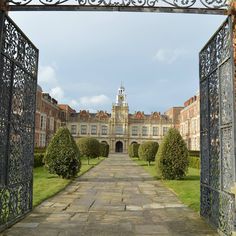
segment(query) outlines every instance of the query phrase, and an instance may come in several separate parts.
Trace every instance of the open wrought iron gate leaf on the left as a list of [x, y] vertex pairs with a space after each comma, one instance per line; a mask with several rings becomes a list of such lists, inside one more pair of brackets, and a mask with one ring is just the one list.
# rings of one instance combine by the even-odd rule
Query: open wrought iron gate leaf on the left
[[0, 231], [32, 209], [38, 50], [0, 12]]

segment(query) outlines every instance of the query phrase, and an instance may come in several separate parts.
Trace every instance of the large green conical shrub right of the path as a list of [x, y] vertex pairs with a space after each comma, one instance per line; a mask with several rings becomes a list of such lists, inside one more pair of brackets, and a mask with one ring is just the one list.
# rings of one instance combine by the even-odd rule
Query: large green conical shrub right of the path
[[188, 149], [178, 130], [171, 128], [156, 155], [156, 168], [163, 179], [181, 179], [188, 170]]

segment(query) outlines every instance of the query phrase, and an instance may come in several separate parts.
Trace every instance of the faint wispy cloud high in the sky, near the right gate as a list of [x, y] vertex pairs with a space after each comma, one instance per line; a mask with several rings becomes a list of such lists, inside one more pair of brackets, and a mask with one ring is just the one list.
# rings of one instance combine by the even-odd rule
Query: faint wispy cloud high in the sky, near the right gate
[[172, 64], [173, 62], [177, 61], [180, 57], [183, 57], [188, 54], [188, 51], [181, 48], [176, 49], [159, 49], [154, 56], [154, 59], [166, 63]]

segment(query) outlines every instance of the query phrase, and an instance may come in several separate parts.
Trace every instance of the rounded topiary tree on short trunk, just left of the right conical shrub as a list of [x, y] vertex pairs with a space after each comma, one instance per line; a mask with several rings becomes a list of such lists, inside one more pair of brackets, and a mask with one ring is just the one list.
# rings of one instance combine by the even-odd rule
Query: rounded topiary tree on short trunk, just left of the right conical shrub
[[159, 144], [157, 142], [147, 141], [139, 146], [138, 156], [148, 162], [155, 161], [155, 156], [158, 151]]

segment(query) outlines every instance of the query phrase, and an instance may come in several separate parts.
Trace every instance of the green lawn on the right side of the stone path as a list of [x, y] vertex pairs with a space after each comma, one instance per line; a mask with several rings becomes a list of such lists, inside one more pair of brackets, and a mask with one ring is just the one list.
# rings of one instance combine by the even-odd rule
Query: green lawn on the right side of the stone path
[[[155, 163], [150, 166], [147, 162], [132, 158], [138, 165], [150, 173], [153, 177], [160, 180], [157, 175]], [[183, 180], [161, 180], [165, 186], [172, 189], [179, 199], [195, 211], [199, 211], [200, 207], [200, 170], [189, 168], [187, 176]]]

